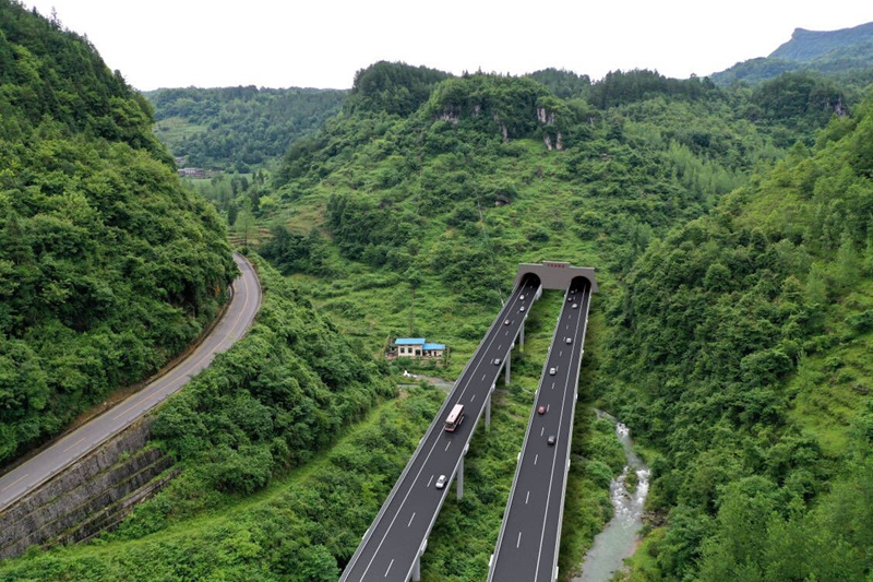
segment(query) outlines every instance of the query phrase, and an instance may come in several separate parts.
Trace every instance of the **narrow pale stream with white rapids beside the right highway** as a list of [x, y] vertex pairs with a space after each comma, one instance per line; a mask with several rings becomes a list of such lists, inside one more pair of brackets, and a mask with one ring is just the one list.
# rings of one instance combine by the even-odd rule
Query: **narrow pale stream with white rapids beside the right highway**
[[[598, 411], [598, 414], [615, 421], [605, 413]], [[615, 433], [627, 454], [627, 464], [622, 474], [609, 485], [614, 515], [603, 531], [595, 536], [594, 545], [582, 565], [582, 575], [574, 578], [573, 582], [608, 582], [615, 570], [621, 568], [624, 558], [636, 550], [637, 534], [643, 527], [643, 503], [648, 494], [649, 470], [633, 451], [630, 429], [615, 423]], [[626, 480], [632, 471], [636, 473], [637, 484], [634, 492], [629, 492]]]

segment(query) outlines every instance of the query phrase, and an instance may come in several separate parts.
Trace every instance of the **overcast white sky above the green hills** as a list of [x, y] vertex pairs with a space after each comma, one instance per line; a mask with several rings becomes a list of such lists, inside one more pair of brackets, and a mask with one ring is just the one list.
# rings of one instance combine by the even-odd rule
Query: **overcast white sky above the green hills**
[[548, 67], [685, 79], [766, 57], [794, 28], [873, 21], [871, 0], [24, 0], [134, 88], [348, 88], [379, 60], [459, 74]]

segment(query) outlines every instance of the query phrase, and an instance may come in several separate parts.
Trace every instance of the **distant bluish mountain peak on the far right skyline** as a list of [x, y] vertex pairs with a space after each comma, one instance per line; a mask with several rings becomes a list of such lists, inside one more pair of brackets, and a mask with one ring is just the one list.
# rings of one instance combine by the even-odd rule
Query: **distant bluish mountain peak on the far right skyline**
[[720, 86], [755, 84], [786, 72], [813, 71], [828, 75], [873, 76], [873, 22], [840, 31], [796, 28], [791, 39], [768, 57], [738, 62], [709, 79]]

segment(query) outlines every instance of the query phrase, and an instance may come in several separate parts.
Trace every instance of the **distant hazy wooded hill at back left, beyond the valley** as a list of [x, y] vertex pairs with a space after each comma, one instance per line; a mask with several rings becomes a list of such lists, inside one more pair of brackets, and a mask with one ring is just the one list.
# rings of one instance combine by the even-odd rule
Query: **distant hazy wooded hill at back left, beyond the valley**
[[184, 165], [248, 173], [268, 167], [295, 140], [315, 131], [347, 93], [240, 86], [143, 95], [155, 108], [155, 134]]

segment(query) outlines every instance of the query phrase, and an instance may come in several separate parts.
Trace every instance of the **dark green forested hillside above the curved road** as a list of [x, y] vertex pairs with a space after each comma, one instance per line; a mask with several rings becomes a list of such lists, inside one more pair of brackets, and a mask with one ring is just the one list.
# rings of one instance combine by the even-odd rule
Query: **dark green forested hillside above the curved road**
[[152, 108], [88, 41], [0, 1], [0, 462], [176, 356], [236, 274]]

